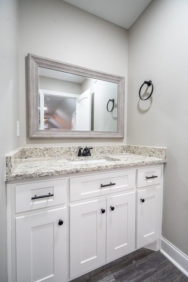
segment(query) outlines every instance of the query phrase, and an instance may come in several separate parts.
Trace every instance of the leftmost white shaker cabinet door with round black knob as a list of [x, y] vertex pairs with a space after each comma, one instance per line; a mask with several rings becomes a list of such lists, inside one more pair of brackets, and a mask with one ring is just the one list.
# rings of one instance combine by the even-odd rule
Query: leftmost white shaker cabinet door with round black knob
[[65, 219], [65, 207], [16, 218], [17, 282], [66, 281]]

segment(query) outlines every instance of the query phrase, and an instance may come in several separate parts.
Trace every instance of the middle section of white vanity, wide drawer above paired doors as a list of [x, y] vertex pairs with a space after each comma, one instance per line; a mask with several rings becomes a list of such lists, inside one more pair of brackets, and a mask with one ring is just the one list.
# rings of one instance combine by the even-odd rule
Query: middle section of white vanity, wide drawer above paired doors
[[135, 173], [70, 178], [70, 278], [135, 249]]

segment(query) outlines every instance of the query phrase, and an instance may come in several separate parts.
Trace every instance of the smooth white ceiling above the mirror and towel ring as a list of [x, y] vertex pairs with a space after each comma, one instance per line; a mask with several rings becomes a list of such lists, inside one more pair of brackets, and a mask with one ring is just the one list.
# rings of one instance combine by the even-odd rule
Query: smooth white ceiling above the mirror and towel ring
[[64, 0], [118, 26], [130, 28], [152, 0]]

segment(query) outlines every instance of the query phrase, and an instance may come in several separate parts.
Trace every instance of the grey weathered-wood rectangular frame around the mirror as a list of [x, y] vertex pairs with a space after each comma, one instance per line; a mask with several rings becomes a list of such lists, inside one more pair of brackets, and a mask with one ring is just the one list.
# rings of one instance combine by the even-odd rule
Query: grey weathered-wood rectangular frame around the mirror
[[[59, 70], [118, 83], [117, 132], [80, 130], [39, 130], [38, 67]], [[122, 76], [86, 69], [80, 66], [39, 57], [28, 53], [28, 104], [29, 138], [123, 138], [124, 137], [124, 86]]]

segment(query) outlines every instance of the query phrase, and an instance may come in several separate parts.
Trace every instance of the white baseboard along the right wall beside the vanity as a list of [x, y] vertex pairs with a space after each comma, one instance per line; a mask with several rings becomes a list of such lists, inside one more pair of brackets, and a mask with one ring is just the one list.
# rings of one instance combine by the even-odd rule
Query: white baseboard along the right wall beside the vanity
[[188, 256], [161, 237], [161, 253], [188, 277]]

